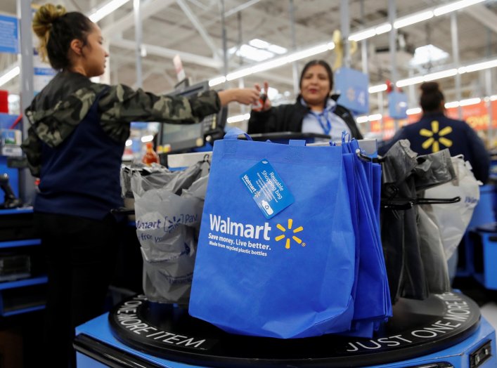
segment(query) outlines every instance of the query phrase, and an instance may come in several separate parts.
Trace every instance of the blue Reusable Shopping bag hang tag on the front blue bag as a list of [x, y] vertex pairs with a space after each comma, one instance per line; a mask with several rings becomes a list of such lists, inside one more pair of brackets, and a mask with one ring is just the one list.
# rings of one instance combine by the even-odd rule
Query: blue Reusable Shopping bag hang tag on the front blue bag
[[267, 159], [262, 159], [240, 175], [254, 202], [266, 218], [272, 218], [295, 202], [295, 198], [283, 183]]

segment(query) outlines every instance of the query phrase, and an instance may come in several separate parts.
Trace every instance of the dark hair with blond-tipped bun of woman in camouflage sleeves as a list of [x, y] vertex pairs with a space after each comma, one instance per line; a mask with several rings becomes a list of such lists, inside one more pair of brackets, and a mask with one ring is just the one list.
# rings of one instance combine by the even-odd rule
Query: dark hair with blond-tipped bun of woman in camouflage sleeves
[[41, 58], [48, 56], [53, 69], [61, 70], [70, 67], [71, 41], [79, 39], [85, 45], [93, 22], [82, 13], [65, 13], [63, 6], [45, 4], [34, 14], [32, 28], [39, 38]]

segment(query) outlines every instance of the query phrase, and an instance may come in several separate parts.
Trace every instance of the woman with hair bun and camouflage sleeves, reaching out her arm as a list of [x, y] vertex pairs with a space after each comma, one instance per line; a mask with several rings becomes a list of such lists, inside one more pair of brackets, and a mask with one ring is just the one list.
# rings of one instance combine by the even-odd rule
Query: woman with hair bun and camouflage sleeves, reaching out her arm
[[120, 166], [131, 121], [198, 123], [231, 101], [255, 103], [255, 88], [207, 91], [189, 98], [157, 96], [90, 78], [103, 74], [108, 52], [86, 15], [46, 4], [32, 28], [39, 53], [58, 74], [25, 110], [22, 143], [40, 178], [34, 215], [48, 261], [44, 353], [50, 367], [75, 364], [75, 327], [103, 313], [115, 269], [123, 205]]

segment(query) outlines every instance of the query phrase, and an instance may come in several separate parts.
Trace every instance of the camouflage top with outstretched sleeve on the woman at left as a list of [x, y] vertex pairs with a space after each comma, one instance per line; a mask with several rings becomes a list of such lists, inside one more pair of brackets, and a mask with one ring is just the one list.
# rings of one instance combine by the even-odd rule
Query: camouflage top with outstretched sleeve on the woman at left
[[82, 74], [60, 72], [25, 110], [31, 125], [21, 147], [33, 176], [39, 177], [41, 143], [50, 147], [63, 143], [98, 96], [98, 114], [103, 130], [123, 144], [129, 137], [131, 121], [196, 123], [221, 108], [214, 91], [188, 98], [157, 96], [141, 89], [135, 91], [123, 84], [108, 86], [93, 83]]

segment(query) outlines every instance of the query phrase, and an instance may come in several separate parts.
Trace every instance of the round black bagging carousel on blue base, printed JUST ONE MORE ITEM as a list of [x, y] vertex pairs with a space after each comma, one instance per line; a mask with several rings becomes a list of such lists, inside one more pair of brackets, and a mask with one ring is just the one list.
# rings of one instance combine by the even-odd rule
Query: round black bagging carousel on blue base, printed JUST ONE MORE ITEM
[[[188, 166], [187, 160], [172, 162]], [[137, 294], [79, 326], [74, 346], [78, 368], [497, 367], [495, 330], [458, 291], [424, 301], [401, 298], [373, 339], [328, 334], [288, 340], [228, 334], [187, 308]]]

